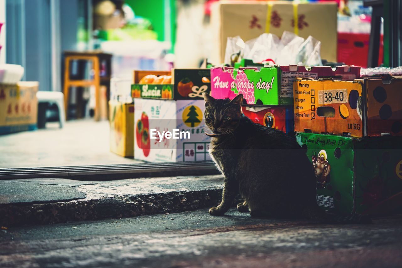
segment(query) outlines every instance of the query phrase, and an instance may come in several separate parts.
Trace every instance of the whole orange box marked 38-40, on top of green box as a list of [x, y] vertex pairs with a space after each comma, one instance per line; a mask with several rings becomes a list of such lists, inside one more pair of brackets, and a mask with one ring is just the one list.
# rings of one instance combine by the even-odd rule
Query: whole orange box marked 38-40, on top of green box
[[293, 86], [296, 132], [402, 134], [402, 79], [299, 79]]

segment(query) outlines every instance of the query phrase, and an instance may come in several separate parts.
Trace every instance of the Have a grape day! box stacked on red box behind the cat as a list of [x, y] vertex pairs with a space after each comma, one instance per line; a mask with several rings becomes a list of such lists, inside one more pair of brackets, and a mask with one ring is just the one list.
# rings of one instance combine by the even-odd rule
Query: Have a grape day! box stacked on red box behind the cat
[[[239, 65], [238, 65], [239, 66]], [[233, 99], [244, 96], [243, 113], [256, 123], [293, 132], [293, 80], [297, 77], [332, 77], [350, 80], [359, 77], [360, 68], [342, 66], [267, 66], [242, 61], [242, 67], [211, 68], [211, 96]]]

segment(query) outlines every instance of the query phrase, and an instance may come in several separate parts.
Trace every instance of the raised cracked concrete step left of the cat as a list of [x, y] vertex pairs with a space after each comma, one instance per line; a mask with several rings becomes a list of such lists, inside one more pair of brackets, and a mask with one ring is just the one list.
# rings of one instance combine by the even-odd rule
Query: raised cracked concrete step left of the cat
[[2, 180], [0, 226], [182, 212], [216, 205], [220, 175], [74, 181]]

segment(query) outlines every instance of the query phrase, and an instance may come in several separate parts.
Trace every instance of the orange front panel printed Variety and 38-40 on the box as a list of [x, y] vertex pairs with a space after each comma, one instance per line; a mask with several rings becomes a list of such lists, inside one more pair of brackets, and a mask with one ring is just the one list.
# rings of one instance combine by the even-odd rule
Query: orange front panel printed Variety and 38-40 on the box
[[363, 111], [357, 102], [362, 92], [358, 80], [298, 78], [293, 82], [295, 132], [361, 137]]

